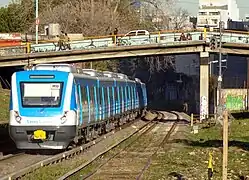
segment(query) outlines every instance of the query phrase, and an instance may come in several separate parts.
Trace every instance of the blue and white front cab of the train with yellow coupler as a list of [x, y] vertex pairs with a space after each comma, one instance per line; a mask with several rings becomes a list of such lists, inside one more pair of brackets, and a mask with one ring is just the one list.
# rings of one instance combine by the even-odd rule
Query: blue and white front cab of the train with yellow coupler
[[73, 87], [73, 75], [67, 72], [12, 75], [9, 133], [18, 149], [65, 149], [69, 145], [76, 135]]

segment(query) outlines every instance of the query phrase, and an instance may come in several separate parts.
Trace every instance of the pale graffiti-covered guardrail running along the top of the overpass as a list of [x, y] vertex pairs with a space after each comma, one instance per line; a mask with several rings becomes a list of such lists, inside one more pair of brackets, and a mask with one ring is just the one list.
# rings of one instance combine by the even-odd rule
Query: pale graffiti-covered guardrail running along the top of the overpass
[[[86, 37], [84, 40], [72, 41], [70, 43], [72, 50], [83, 50], [92, 48], [107, 48], [113, 46], [134, 46], [134, 45], [146, 45], [146, 44], [168, 44], [175, 41], [179, 41], [180, 36], [183, 31], [172, 31], [172, 32], [158, 32], [152, 33], [150, 35], [143, 36], [126, 36], [123, 35], [116, 36], [103, 36], [103, 37]], [[212, 31], [207, 32], [204, 36], [204, 32], [198, 31], [184, 31], [191, 35], [192, 40], [197, 41], [204, 39], [207, 42], [210, 41], [212, 36], [219, 36], [219, 32]], [[114, 43], [116, 41], [116, 43]], [[249, 44], [249, 33], [238, 32], [238, 31], [223, 31], [222, 42], [225, 43], [239, 43], [239, 44]], [[58, 51], [56, 46], [57, 42], [49, 42], [43, 44], [31, 44], [31, 53], [39, 52], [54, 52]], [[0, 48], [0, 56], [11, 56], [16, 54], [26, 53], [26, 46], [8, 47]]]

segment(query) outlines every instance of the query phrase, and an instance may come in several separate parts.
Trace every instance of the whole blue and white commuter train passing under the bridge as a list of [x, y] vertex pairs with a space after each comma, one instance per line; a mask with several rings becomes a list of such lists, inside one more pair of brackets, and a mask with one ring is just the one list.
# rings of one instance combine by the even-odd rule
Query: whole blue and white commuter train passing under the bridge
[[18, 149], [66, 149], [142, 115], [139, 79], [69, 64], [39, 64], [12, 75], [9, 133]]

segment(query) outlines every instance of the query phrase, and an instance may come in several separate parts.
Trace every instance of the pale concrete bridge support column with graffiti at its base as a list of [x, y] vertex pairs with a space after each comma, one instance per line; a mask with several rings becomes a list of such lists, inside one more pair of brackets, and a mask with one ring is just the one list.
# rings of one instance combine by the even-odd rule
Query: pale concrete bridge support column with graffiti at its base
[[200, 53], [200, 121], [209, 113], [209, 53]]

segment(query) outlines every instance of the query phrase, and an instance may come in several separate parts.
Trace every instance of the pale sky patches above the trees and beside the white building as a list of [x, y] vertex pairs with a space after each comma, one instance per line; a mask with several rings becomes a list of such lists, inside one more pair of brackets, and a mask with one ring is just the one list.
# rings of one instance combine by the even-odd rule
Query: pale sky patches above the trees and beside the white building
[[[0, 6], [7, 5], [11, 0], [0, 0]], [[197, 15], [199, 0], [176, 0], [178, 1], [178, 7], [182, 7], [188, 10], [192, 16]], [[248, 0], [237, 0], [237, 4], [240, 9], [240, 18], [244, 18], [245, 14], [249, 14]]]

